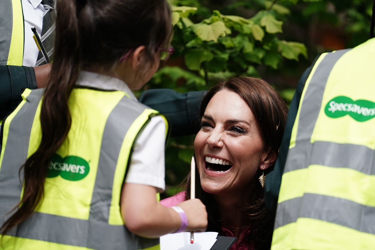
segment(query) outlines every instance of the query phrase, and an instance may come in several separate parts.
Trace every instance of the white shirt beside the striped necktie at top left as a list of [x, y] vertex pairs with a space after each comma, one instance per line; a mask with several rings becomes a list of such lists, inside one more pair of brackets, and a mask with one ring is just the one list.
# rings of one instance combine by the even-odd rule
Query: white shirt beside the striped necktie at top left
[[31, 26], [36, 28], [39, 37], [42, 34], [43, 13], [46, 12], [40, 3], [42, 0], [21, 0], [24, 15], [24, 56], [23, 66], [34, 67], [38, 58], [39, 49], [33, 38]]

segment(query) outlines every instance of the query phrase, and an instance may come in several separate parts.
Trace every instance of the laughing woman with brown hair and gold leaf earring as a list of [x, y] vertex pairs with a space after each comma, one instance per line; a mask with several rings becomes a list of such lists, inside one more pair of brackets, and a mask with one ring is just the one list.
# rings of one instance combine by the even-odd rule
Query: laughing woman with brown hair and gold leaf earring
[[[257, 78], [229, 79], [202, 100], [195, 197], [207, 208], [207, 231], [237, 238], [231, 250], [270, 249], [275, 215], [264, 204], [258, 179], [273, 169], [287, 112], [279, 94]], [[189, 179], [187, 192], [161, 203], [189, 199]]]

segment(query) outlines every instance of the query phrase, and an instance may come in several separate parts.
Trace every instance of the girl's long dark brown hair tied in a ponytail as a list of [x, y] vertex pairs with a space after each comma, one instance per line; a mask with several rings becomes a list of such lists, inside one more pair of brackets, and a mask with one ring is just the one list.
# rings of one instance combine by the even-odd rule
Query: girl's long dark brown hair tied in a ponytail
[[71, 127], [68, 99], [80, 69], [111, 69], [141, 45], [146, 64], [152, 64], [157, 48], [169, 41], [171, 13], [165, 0], [60, 0], [55, 31], [54, 62], [40, 111], [42, 139], [21, 166], [23, 196], [1, 226], [2, 235], [31, 216], [43, 199], [48, 163]]

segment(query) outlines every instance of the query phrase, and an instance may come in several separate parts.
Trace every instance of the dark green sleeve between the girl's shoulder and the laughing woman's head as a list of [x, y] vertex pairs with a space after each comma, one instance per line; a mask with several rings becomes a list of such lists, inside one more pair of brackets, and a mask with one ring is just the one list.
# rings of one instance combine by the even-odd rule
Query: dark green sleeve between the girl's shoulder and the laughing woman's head
[[192, 135], [199, 130], [199, 106], [205, 91], [178, 93], [162, 88], [144, 91], [139, 102], [165, 115], [171, 122], [171, 136]]

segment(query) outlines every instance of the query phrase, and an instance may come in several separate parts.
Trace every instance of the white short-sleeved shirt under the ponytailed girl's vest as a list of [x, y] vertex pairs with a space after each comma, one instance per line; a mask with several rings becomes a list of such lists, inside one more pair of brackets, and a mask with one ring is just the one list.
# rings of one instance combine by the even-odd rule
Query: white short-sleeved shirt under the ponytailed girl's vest
[[[121, 90], [134, 102], [138, 102], [126, 83], [118, 78], [81, 71], [76, 84], [103, 90]], [[165, 189], [165, 132], [163, 118], [159, 115], [152, 117], [135, 142], [126, 183], [156, 187], [157, 192]]]

